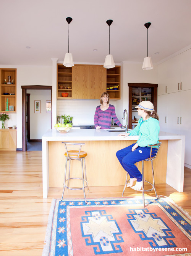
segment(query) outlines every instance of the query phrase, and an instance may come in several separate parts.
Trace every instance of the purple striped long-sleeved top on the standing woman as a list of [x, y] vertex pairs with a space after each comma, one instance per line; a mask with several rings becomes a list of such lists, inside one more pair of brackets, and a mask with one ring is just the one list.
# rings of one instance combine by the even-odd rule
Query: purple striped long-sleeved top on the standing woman
[[112, 117], [115, 123], [121, 127], [122, 124], [120, 123], [120, 121], [118, 120], [115, 114], [115, 107], [113, 105], [109, 104], [108, 109], [104, 111], [101, 110], [100, 106], [97, 106], [95, 109], [95, 115], [94, 115], [95, 128], [97, 126], [101, 126], [101, 129], [110, 129]]

